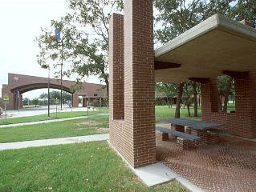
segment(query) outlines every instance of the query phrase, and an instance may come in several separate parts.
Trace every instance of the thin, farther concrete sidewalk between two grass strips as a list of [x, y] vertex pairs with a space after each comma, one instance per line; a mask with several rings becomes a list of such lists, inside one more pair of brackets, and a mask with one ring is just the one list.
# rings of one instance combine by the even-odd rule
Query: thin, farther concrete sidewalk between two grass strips
[[80, 116], [80, 117], [74, 117], [74, 118], [58, 118], [58, 119], [51, 119], [51, 120], [45, 120], [45, 121], [39, 121], [39, 122], [21, 122], [21, 123], [9, 124], [9, 125], [2, 125], [0, 126], [0, 129], [6, 128], [6, 127], [13, 127], [13, 126], [30, 126], [30, 125], [37, 125], [37, 124], [50, 123], [50, 122], [63, 122], [68, 120], [80, 119], [80, 118], [93, 118], [99, 115], [108, 115], [108, 114], [95, 114], [95, 115]]

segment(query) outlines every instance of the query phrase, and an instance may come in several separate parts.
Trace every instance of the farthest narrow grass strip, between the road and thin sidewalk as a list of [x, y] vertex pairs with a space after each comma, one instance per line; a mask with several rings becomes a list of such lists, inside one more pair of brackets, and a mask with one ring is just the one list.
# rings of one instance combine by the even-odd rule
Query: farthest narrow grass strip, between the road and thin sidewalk
[[[89, 111], [89, 114], [99, 114], [99, 113], [108, 113], [108, 109], [101, 108], [94, 111]], [[6, 120], [4, 118], [0, 119], [0, 125], [6, 125], [6, 124], [14, 124], [14, 123], [20, 123], [20, 122], [39, 122], [44, 120], [51, 120], [56, 118], [74, 118], [79, 116], [87, 116], [87, 110], [85, 111], [74, 111], [74, 112], [60, 112], [57, 114], [51, 113], [51, 117], [48, 118], [47, 114], [40, 114], [35, 116], [29, 116], [29, 117], [22, 117], [22, 118], [7, 118]], [[7, 122], [6, 122], [7, 121]]]

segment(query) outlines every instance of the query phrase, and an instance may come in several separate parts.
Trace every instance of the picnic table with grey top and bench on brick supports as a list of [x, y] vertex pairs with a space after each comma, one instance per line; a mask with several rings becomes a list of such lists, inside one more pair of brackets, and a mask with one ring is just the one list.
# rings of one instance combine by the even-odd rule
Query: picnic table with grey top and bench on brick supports
[[220, 128], [221, 125], [216, 122], [173, 118], [170, 119], [168, 123], [171, 125], [171, 129], [156, 126], [156, 130], [161, 132], [161, 140], [168, 140], [169, 134], [171, 134], [177, 138], [177, 143], [182, 150], [193, 146], [211, 144], [217, 142], [219, 139], [218, 128]]

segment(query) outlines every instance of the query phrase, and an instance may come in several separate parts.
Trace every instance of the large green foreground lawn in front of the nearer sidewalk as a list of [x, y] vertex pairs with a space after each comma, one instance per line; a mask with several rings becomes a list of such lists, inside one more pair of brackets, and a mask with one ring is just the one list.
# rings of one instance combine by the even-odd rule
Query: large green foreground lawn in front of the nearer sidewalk
[[0, 191], [185, 191], [177, 182], [148, 188], [107, 142], [0, 151]]

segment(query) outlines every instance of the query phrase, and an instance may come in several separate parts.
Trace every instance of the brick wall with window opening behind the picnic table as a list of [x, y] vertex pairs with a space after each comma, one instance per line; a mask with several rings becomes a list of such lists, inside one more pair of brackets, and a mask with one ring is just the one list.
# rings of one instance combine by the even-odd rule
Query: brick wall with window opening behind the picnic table
[[236, 113], [217, 112], [218, 90], [217, 79], [201, 85], [202, 119], [209, 122], [220, 122], [222, 130], [245, 137], [256, 137], [256, 72], [251, 71], [244, 79], [235, 78]]

